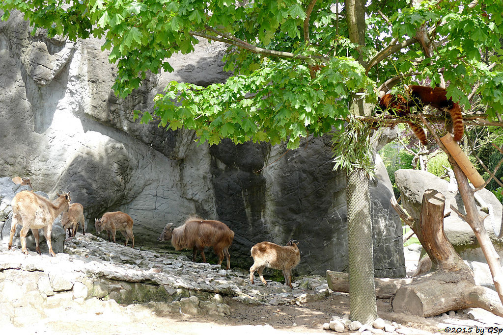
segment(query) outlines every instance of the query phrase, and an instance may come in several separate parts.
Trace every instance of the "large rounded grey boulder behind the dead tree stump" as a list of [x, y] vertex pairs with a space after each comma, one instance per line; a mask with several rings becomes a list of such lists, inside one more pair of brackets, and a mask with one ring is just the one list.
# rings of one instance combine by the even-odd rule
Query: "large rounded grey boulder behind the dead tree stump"
[[[461, 213], [465, 213], [463, 200], [457, 189], [454, 190], [447, 181], [438, 178], [434, 174], [420, 170], [397, 170], [395, 172], [395, 182], [400, 190], [402, 206], [412, 217], [420, 216], [423, 194], [427, 189], [435, 189], [442, 193], [445, 196], [444, 212], [451, 212], [448, 217], [444, 218], [445, 235], [463, 259], [485, 262], [472, 229], [450, 208], [453, 205]], [[491, 207], [492, 214], [485, 218], [484, 227], [489, 234], [496, 252], [501, 256], [503, 255], [503, 243], [501, 243], [501, 240], [495, 238], [491, 224], [492, 217], [495, 229], [499, 230], [501, 224], [501, 203], [492, 192], [486, 189], [477, 191], [476, 196], [480, 197], [482, 202], [485, 203], [482, 207], [487, 207], [488, 205]], [[477, 208], [482, 209], [480, 203], [477, 204]], [[486, 214], [481, 212], [481, 215]]]

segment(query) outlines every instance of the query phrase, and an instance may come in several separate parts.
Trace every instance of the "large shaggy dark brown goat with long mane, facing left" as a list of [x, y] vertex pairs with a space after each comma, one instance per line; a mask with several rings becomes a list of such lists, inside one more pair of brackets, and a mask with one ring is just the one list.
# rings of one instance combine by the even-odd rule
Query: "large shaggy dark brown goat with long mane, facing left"
[[218, 265], [222, 264], [224, 255], [227, 259], [226, 269], [230, 269], [229, 246], [234, 239], [234, 232], [223, 222], [217, 220], [203, 220], [199, 217], [189, 217], [185, 223], [175, 228], [174, 224], [167, 224], [157, 241], [170, 241], [175, 249], [193, 249], [192, 261], [196, 261], [197, 252], [201, 253], [203, 263], [205, 247], [213, 247], [218, 255]]

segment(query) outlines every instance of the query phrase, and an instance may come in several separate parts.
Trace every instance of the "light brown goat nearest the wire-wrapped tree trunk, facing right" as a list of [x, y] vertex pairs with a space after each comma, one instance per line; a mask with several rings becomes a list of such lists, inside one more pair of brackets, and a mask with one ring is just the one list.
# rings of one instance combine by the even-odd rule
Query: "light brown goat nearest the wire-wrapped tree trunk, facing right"
[[285, 247], [271, 242], [257, 243], [251, 247], [251, 257], [255, 261], [250, 268], [250, 282], [255, 284], [253, 275], [255, 271], [259, 273], [260, 280], [267, 285], [262, 272], [266, 267], [282, 270], [285, 276], [285, 284], [292, 286], [292, 269], [300, 262], [300, 252], [298, 241], [290, 240]]

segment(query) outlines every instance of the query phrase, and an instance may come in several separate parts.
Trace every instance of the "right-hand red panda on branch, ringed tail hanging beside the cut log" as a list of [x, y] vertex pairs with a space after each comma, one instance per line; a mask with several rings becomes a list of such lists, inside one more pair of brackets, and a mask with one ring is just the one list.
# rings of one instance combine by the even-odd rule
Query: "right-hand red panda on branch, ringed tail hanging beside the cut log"
[[447, 99], [445, 88], [409, 85], [406, 87], [406, 94], [410, 99], [407, 103], [408, 107], [416, 105], [418, 111], [422, 111], [424, 105], [430, 105], [439, 110], [447, 110], [453, 123], [454, 141], [457, 142], [463, 138], [464, 127], [461, 107], [452, 99]]

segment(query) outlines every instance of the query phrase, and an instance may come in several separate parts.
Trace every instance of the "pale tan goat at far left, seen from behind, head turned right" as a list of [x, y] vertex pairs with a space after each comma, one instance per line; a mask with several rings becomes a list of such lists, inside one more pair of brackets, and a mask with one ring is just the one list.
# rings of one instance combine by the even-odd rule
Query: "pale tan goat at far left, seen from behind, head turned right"
[[43, 196], [40, 196], [31, 191], [21, 191], [12, 200], [12, 226], [11, 226], [11, 236], [9, 238], [9, 250], [12, 248], [12, 239], [14, 238], [14, 233], [16, 232], [16, 226], [22, 225], [21, 231], [19, 233], [21, 238], [21, 250], [28, 255], [26, 250], [26, 234], [28, 230], [31, 229], [33, 236], [35, 237], [36, 251], [39, 255], [39, 235], [38, 230], [44, 229], [44, 236], [47, 241], [47, 247], [49, 247], [49, 254], [51, 256], [56, 256], [54, 251], [52, 251], [51, 246], [51, 232], [52, 224], [54, 219], [63, 211], [68, 211], [70, 205], [70, 192], [65, 194], [56, 193], [58, 198], [54, 201], [50, 201]]

